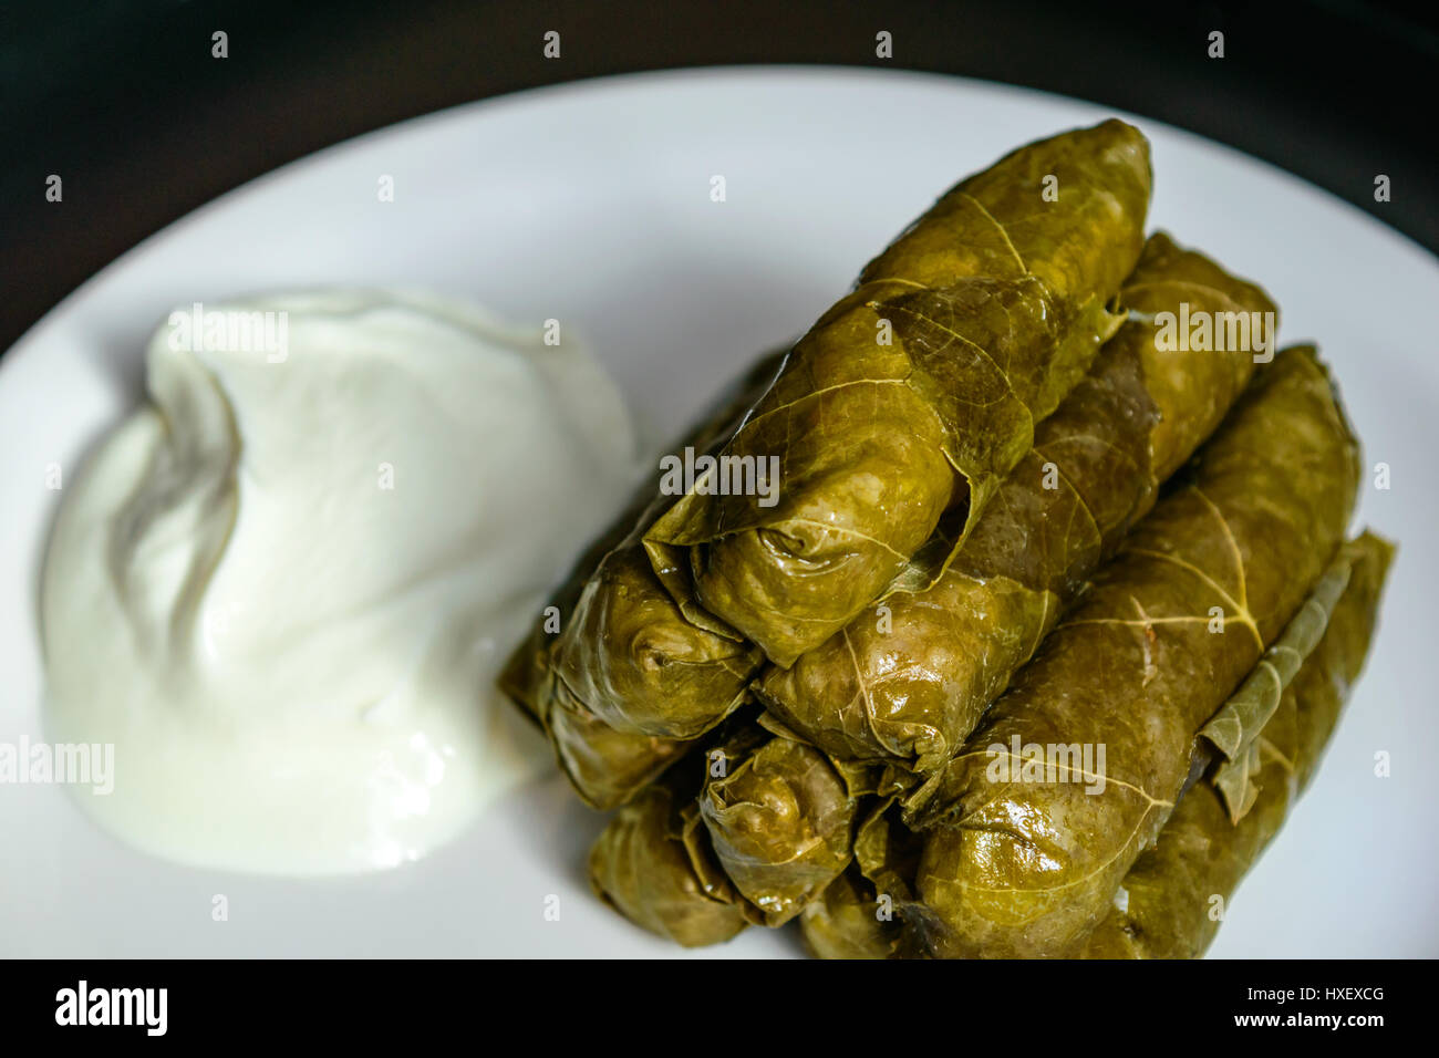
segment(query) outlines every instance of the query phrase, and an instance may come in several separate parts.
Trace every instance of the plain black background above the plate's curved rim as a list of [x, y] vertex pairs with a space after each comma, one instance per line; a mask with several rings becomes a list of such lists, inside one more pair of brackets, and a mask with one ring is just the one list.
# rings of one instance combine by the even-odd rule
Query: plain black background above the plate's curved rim
[[[541, 55], [548, 29], [560, 60]], [[1215, 29], [1223, 60], [1206, 56]], [[0, 348], [147, 235], [319, 147], [557, 81], [773, 62], [1109, 104], [1276, 163], [1439, 252], [1435, 4], [0, 0]], [[63, 203], [45, 200], [50, 173]]]

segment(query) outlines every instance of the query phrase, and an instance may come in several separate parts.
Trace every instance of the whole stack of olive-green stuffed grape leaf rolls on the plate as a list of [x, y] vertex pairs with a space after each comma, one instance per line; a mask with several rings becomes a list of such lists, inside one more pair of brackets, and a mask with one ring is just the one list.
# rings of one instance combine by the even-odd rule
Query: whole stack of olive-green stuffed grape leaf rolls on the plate
[[[1053, 190], [1058, 189], [1058, 197]], [[1200, 954], [1312, 774], [1392, 547], [1314, 350], [1143, 238], [1108, 121], [947, 194], [681, 439], [502, 687], [596, 808], [596, 891], [681, 944]], [[1217, 327], [1216, 322], [1216, 335]], [[725, 488], [778, 456], [778, 502]]]

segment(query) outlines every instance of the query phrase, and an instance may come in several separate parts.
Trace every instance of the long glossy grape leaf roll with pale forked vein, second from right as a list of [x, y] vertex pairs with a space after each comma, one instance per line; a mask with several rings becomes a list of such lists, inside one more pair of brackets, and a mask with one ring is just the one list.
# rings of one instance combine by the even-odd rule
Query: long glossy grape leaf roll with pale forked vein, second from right
[[1082, 944], [1158, 836], [1199, 728], [1328, 566], [1357, 481], [1327, 373], [1281, 353], [911, 815], [931, 950]]

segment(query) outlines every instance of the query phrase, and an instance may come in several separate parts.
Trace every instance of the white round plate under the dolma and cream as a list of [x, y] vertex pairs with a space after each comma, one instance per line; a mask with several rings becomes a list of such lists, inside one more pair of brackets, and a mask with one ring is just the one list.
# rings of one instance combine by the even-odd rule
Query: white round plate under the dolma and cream
[[[35, 586], [58, 499], [45, 468], [72, 474], [137, 402], [144, 340], [171, 307], [393, 284], [518, 320], [557, 317], [597, 347], [646, 432], [666, 436], [760, 350], [803, 331], [957, 177], [1109, 114], [915, 73], [649, 73], [381, 130], [197, 210], [66, 298], [0, 364], [0, 741], [42, 737]], [[1366, 485], [1361, 520], [1402, 543], [1377, 646], [1324, 769], [1232, 903], [1213, 954], [1439, 954], [1439, 266], [1291, 176], [1135, 121], [1154, 144], [1154, 225], [1262, 281], [1286, 341], [1322, 343], [1367, 462], [1392, 468], [1390, 491]], [[383, 174], [393, 203], [378, 202]], [[724, 203], [709, 199], [715, 174]], [[184, 174], [157, 173], [155, 194], [171, 180]], [[557, 573], [568, 559], [555, 556]], [[1389, 779], [1374, 776], [1377, 751], [1392, 754]], [[589, 895], [581, 865], [599, 819], [558, 779], [425, 862], [321, 882], [150, 859], [68, 797], [0, 787], [0, 954], [679, 953]], [[214, 894], [229, 897], [229, 921], [212, 920]], [[548, 894], [561, 897], [560, 921], [543, 915]], [[789, 931], [763, 930], [711, 950], [794, 951]]]

